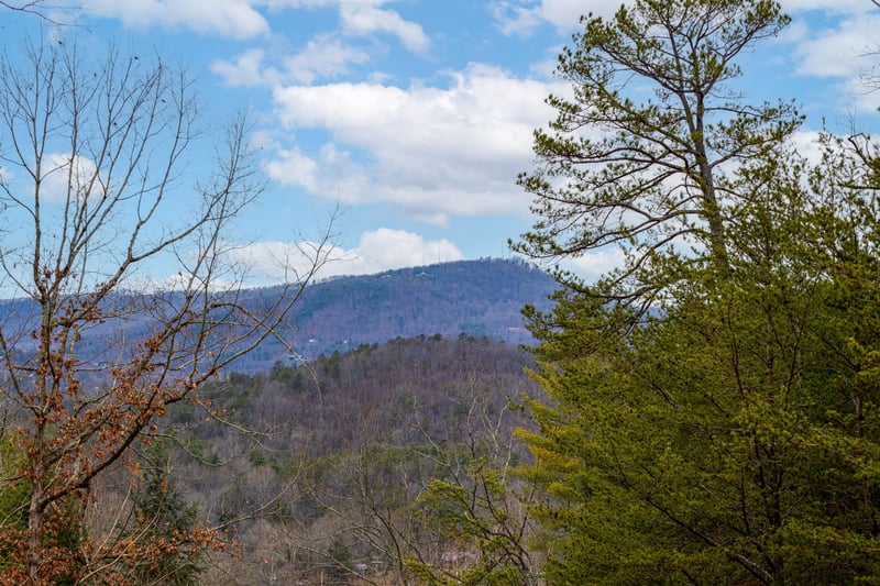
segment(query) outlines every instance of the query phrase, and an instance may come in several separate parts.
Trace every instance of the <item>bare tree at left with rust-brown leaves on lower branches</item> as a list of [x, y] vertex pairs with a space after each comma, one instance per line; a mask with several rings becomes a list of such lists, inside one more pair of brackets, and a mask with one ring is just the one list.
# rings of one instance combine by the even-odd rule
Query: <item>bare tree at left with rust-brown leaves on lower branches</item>
[[[24, 55], [0, 62], [0, 288], [20, 299], [0, 324], [0, 390], [28, 454], [8, 482], [30, 485], [25, 529], [4, 539], [21, 552], [18, 579], [38, 584], [138, 555], [109, 551], [112, 540], [54, 545], [55, 512], [124, 464], [169, 405], [198, 400], [201, 383], [272, 335], [327, 261], [332, 228], [257, 301], [228, 240], [263, 189], [244, 118], [190, 189], [187, 165], [209, 165], [194, 156], [199, 104], [184, 71], [117, 48], [84, 59], [75, 43]], [[169, 267], [173, 279], [156, 278]]]

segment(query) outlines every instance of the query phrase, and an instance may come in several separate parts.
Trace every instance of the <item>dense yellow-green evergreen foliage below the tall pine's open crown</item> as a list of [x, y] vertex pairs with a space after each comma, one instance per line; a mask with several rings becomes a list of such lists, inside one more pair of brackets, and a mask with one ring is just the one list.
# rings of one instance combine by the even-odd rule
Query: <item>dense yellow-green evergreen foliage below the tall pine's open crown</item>
[[540, 433], [522, 434], [546, 487], [537, 512], [563, 535], [549, 542], [554, 583], [880, 572], [880, 386], [861, 346], [880, 339], [880, 288], [847, 276], [880, 266], [804, 258], [783, 233], [772, 263], [744, 255], [729, 279], [697, 265], [636, 328], [617, 309], [560, 303], [536, 375], [556, 402], [531, 401]]

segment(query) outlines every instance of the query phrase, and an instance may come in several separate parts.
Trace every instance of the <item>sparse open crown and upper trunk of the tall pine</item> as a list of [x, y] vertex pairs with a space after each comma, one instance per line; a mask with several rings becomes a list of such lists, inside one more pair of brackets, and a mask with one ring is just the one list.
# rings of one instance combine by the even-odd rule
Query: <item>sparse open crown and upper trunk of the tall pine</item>
[[573, 99], [548, 99], [557, 119], [536, 131], [541, 164], [519, 177], [538, 220], [515, 250], [547, 258], [624, 247], [627, 265], [608, 279], [636, 277], [616, 295], [640, 300], [664, 285], [637, 278], [656, 254], [705, 246], [725, 269], [724, 223], [741, 200], [723, 169], [765, 156], [802, 120], [791, 103], [744, 102], [729, 86], [735, 59], [788, 18], [768, 0], [638, 0], [582, 22], [558, 67]]

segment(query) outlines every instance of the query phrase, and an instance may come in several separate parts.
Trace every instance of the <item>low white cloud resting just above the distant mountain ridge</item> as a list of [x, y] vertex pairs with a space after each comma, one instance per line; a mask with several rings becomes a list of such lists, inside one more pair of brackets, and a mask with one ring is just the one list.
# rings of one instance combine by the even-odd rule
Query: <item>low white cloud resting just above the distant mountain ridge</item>
[[[233, 251], [233, 256], [260, 275], [261, 284], [290, 280], [296, 273], [308, 270], [311, 259], [302, 251], [315, 243], [258, 242]], [[403, 230], [381, 228], [361, 235], [359, 244], [345, 250], [334, 247], [319, 278], [340, 275], [369, 275], [393, 268], [460, 261], [463, 255], [446, 239], [426, 241], [421, 235]]]

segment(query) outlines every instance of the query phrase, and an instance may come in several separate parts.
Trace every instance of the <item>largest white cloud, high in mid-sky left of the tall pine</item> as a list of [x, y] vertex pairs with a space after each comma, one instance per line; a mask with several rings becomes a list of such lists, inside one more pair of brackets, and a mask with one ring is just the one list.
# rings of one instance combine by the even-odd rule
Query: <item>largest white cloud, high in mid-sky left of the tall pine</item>
[[[568, 87], [485, 65], [450, 76], [447, 88], [278, 88], [285, 130], [324, 129], [332, 140], [316, 154], [282, 153], [268, 165], [271, 175], [350, 203], [395, 202], [439, 224], [449, 214], [524, 211], [528, 198], [514, 179], [532, 159], [532, 130], [552, 117], [544, 98]], [[320, 169], [318, 179], [302, 169]]]

